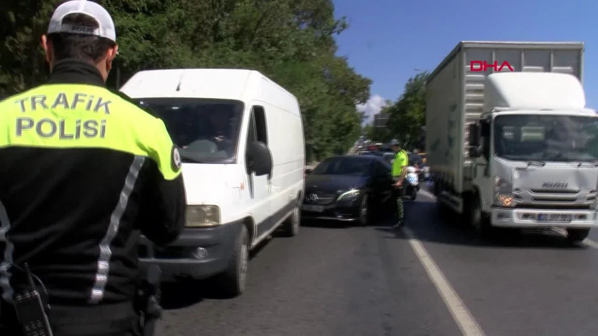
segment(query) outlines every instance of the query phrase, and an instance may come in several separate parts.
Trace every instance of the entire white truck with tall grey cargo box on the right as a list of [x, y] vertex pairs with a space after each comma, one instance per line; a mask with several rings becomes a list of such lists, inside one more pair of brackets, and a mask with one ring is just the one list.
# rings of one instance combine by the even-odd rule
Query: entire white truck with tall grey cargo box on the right
[[460, 42], [429, 77], [427, 161], [439, 210], [492, 227], [598, 225], [598, 118], [580, 42]]

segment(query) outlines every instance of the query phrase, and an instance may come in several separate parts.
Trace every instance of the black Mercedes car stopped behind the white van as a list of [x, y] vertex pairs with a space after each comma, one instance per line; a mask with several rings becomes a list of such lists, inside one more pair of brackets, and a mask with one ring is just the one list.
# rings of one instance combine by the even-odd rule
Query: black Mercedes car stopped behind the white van
[[390, 165], [382, 157], [332, 157], [307, 173], [301, 207], [304, 219], [356, 221], [368, 225], [371, 209], [391, 209]]

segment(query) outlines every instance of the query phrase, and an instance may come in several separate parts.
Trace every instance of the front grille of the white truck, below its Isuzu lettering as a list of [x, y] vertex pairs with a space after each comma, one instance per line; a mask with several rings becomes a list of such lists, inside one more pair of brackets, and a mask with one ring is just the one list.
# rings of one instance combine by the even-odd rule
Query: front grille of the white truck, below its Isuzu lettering
[[513, 196], [520, 207], [566, 207], [587, 209], [596, 200], [596, 190], [542, 190], [515, 188]]

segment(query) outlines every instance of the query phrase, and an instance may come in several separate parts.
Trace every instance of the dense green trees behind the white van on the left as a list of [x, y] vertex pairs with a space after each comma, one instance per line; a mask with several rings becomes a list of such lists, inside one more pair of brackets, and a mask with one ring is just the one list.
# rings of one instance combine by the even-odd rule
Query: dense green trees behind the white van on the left
[[[62, 1], [0, 2], [0, 97], [47, 77], [39, 36]], [[109, 84], [142, 69], [249, 68], [298, 97], [308, 155], [343, 152], [361, 132], [355, 105], [371, 81], [335, 56], [347, 28], [331, 0], [97, 0], [112, 13], [120, 54]]]

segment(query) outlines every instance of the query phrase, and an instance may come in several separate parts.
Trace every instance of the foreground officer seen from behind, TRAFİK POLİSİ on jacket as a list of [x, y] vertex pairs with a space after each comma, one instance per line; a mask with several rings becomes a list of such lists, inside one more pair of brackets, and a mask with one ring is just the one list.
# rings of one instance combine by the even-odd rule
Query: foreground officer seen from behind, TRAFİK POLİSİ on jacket
[[105, 87], [103, 7], [60, 5], [42, 46], [49, 83], [0, 102], [0, 335], [22, 334], [25, 264], [54, 335], [132, 335], [139, 230], [164, 246], [184, 227], [181, 159], [161, 120]]

